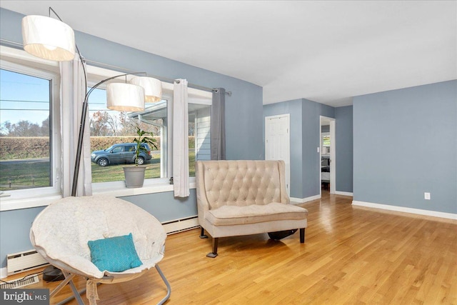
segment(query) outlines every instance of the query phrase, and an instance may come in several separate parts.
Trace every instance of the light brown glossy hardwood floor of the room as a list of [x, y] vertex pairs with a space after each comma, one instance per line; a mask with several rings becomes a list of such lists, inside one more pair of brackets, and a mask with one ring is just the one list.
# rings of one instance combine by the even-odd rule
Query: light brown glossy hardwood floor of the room
[[[209, 259], [211, 238], [199, 239], [199, 229], [168, 236], [159, 264], [172, 289], [166, 304], [457, 304], [457, 221], [359, 208], [351, 200], [323, 193], [303, 204], [305, 244], [298, 233], [281, 241], [223, 238], [219, 256]], [[152, 269], [99, 286], [98, 304], [156, 304], [165, 294]], [[66, 287], [51, 304], [69, 295]]]

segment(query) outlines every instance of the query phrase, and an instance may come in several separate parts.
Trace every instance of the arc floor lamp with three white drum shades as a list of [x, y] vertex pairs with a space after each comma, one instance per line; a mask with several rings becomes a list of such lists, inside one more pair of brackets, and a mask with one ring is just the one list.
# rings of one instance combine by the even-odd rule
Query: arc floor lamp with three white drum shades
[[[51, 11], [57, 19], [51, 18]], [[84, 139], [84, 126], [86, 125], [87, 110], [89, 108], [89, 96], [94, 89], [101, 84], [116, 79], [119, 76], [146, 74], [146, 72], [135, 72], [129, 74], [119, 74], [100, 81], [91, 89], [87, 86], [87, 73], [84, 66], [84, 57], [76, 45], [74, 31], [65, 24], [56, 14], [56, 11], [49, 7], [49, 16], [25, 16], [22, 19], [22, 39], [24, 50], [29, 54], [42, 59], [54, 61], [71, 61], [77, 54], [84, 70], [84, 83], [86, 95], [84, 96], [83, 109], [81, 113], [81, 123], [79, 125], [78, 146], [76, 149], [76, 160], [74, 166], [73, 184], [71, 196], [76, 196], [78, 184], [79, 165], [81, 163], [81, 152]], [[106, 86], [106, 104], [109, 109], [117, 111], [142, 111], [144, 102], [156, 102], [161, 100], [162, 85], [159, 79], [147, 76], [136, 76], [130, 83], [112, 83]]]

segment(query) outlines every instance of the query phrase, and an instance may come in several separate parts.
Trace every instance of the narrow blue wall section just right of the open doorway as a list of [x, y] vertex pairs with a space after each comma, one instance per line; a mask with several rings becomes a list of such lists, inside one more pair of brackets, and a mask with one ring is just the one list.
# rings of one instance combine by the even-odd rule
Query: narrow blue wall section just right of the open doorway
[[352, 106], [335, 108], [336, 191], [353, 192]]

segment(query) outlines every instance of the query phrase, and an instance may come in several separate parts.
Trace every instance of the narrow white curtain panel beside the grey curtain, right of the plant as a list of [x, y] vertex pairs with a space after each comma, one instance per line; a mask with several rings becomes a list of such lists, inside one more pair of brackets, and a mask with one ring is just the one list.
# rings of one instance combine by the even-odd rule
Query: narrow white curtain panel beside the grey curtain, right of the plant
[[175, 197], [189, 191], [189, 117], [187, 80], [176, 79], [173, 86], [173, 185]]

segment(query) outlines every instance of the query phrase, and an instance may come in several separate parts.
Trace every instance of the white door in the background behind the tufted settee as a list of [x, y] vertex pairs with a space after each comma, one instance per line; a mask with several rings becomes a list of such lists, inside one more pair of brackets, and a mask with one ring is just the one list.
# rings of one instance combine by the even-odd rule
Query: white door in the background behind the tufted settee
[[265, 159], [283, 160], [286, 164], [286, 189], [290, 195], [291, 152], [290, 115], [266, 116], [265, 118]]

